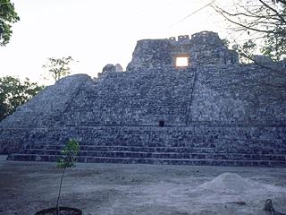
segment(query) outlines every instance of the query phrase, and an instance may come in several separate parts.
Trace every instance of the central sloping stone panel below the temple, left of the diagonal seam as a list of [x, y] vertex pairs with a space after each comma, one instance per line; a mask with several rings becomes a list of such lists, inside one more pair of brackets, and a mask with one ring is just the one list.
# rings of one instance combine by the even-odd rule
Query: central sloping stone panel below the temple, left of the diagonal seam
[[172, 67], [109, 73], [89, 84], [63, 114], [69, 125], [185, 125], [194, 71]]

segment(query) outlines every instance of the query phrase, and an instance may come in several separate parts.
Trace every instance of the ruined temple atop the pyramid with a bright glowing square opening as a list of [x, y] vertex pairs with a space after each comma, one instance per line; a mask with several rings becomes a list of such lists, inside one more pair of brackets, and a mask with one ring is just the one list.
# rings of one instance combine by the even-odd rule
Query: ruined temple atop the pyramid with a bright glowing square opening
[[[182, 60], [182, 64], [178, 65]], [[139, 40], [127, 66], [127, 71], [138, 67], [189, 67], [200, 64], [239, 64], [239, 56], [228, 49], [217, 33], [202, 31], [170, 39]]]

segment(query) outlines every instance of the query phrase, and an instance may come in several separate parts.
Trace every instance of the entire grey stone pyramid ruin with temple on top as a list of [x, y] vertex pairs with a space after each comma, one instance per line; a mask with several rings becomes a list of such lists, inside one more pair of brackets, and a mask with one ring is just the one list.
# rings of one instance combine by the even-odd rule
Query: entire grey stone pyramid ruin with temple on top
[[55, 161], [75, 138], [82, 162], [286, 167], [285, 74], [240, 64], [214, 32], [139, 40], [126, 71], [63, 78], [19, 107], [0, 151]]

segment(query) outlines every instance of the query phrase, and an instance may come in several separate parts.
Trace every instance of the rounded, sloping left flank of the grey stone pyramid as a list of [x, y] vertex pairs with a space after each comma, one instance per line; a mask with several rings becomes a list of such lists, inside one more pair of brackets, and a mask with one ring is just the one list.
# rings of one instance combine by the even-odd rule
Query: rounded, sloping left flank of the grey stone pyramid
[[38, 138], [36, 133], [46, 133], [48, 128], [63, 124], [63, 112], [87, 82], [92, 80], [86, 74], [66, 77], [18, 107], [0, 124], [0, 153], [17, 151], [29, 144], [29, 139]]

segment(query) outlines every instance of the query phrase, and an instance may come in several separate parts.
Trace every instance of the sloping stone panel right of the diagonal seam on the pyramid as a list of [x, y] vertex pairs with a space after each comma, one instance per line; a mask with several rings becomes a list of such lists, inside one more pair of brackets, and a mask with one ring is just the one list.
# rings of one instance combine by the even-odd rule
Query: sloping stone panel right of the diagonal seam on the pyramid
[[[282, 64], [204, 66], [191, 106], [191, 120], [225, 124], [284, 125], [286, 79]], [[285, 71], [284, 71], [285, 73]]]

